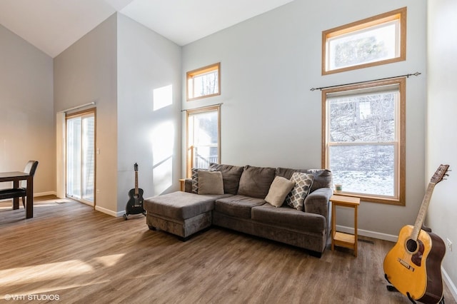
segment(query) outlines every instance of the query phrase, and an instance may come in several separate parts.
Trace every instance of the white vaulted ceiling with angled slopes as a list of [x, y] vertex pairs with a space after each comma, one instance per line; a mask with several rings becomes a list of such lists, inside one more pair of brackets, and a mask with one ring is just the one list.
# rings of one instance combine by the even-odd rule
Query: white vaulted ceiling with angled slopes
[[1, 0], [0, 24], [51, 57], [116, 11], [184, 46], [293, 0]]

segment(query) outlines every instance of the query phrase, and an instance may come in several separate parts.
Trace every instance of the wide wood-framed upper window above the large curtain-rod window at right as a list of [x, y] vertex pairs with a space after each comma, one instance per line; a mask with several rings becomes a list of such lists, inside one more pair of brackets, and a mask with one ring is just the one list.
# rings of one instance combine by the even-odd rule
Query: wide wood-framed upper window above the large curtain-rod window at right
[[322, 74], [406, 59], [406, 7], [322, 32]]

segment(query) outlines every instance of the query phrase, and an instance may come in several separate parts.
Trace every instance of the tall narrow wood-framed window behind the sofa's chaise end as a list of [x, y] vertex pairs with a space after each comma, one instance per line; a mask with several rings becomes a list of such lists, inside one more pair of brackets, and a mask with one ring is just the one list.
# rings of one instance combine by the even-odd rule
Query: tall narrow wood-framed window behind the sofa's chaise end
[[221, 106], [187, 110], [187, 174], [191, 168], [208, 168], [220, 161]]

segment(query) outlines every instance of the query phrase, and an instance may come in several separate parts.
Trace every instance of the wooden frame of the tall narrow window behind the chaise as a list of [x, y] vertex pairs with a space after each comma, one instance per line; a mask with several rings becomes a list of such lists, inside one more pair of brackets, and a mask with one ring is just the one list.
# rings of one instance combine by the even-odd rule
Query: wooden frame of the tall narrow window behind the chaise
[[201, 108], [186, 110], [186, 177], [192, 176], [192, 167], [194, 161], [194, 143], [190, 140], [189, 134], [189, 116], [199, 113], [217, 111], [217, 159], [221, 163], [221, 105], [204, 106]]

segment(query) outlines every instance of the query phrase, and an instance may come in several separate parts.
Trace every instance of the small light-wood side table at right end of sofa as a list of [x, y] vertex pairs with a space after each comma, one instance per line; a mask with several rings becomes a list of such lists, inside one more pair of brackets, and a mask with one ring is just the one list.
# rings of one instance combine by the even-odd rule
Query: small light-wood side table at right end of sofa
[[[360, 198], [351, 196], [331, 196], [331, 250], [335, 245], [354, 250], [357, 256], [357, 208]], [[336, 231], [336, 206], [354, 208], [354, 234]]]

